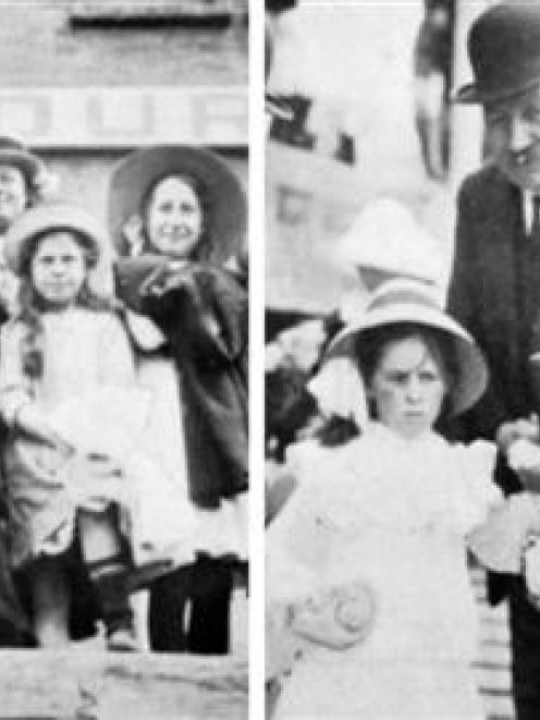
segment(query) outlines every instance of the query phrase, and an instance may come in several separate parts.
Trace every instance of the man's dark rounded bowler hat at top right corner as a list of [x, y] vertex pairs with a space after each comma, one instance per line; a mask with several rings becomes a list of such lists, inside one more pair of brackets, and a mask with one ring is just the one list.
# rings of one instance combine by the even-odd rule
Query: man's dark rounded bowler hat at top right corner
[[540, 3], [504, 2], [472, 23], [468, 52], [475, 82], [456, 102], [492, 102], [540, 83]]

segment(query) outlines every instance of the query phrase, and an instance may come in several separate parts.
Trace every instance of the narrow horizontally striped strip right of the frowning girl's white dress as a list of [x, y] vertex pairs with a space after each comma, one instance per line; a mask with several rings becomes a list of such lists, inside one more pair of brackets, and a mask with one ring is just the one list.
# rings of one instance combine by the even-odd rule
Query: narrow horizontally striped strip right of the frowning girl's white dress
[[488, 605], [483, 570], [471, 566], [470, 575], [480, 613], [480, 647], [475, 666], [487, 718], [514, 720], [507, 606], [505, 602], [496, 608]]

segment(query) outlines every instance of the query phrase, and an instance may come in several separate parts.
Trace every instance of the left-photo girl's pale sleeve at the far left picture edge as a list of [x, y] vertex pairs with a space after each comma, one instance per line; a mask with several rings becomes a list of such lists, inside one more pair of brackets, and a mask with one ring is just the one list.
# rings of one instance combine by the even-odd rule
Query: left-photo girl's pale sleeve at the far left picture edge
[[20, 407], [33, 402], [32, 382], [23, 373], [24, 327], [11, 321], [0, 329], [0, 414], [13, 427]]

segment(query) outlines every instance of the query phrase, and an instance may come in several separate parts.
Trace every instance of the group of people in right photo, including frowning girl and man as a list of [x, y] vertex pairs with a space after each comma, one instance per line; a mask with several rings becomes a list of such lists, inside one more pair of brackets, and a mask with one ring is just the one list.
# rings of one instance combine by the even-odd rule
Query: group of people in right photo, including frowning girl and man
[[508, 600], [516, 718], [540, 717], [540, 7], [491, 4], [468, 51], [454, 101], [482, 107], [486, 164], [458, 193], [447, 286], [435, 243], [378, 199], [341, 243], [356, 312], [318, 318], [302, 358], [269, 347], [269, 376], [307, 368], [311, 400], [268, 446], [279, 718], [484, 718], [467, 553]]

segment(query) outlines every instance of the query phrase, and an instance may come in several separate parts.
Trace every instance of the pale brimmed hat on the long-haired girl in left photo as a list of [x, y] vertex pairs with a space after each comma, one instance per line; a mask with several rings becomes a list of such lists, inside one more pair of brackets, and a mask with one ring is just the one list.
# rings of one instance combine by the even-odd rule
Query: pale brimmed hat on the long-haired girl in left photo
[[109, 246], [105, 227], [82, 208], [64, 203], [41, 203], [19, 216], [5, 234], [3, 253], [11, 270], [20, 274], [28, 243], [36, 235], [53, 230], [81, 233], [90, 242], [98, 258], [106, 254]]

